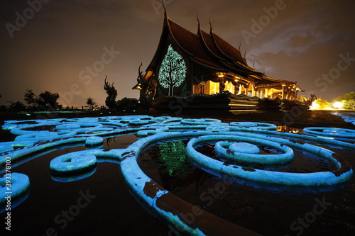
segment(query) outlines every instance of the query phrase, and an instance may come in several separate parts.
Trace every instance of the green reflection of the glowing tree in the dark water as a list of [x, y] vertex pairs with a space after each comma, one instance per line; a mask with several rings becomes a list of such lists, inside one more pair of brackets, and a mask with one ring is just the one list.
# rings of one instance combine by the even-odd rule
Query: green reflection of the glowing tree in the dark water
[[161, 167], [160, 172], [170, 176], [183, 177], [191, 172], [191, 165], [187, 162], [185, 144], [182, 140], [163, 142], [159, 145]]

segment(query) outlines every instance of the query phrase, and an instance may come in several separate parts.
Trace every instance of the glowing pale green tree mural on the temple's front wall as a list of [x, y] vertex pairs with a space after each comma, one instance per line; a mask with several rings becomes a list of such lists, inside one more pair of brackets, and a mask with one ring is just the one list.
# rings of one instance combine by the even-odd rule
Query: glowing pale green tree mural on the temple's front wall
[[182, 56], [173, 50], [171, 44], [168, 47], [168, 52], [161, 62], [158, 81], [165, 89], [169, 89], [169, 96], [173, 96], [174, 88], [184, 82], [186, 76], [186, 64]]

